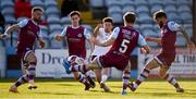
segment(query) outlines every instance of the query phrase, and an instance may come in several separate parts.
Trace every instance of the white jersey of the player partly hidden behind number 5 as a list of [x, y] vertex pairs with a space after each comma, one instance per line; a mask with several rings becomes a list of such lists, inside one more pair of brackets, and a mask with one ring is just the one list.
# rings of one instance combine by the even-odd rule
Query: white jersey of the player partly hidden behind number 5
[[[100, 42], [103, 42], [110, 37], [110, 34], [105, 32], [105, 28], [99, 28], [99, 34], [97, 35], [96, 39], [99, 40]], [[94, 52], [91, 55], [102, 55], [109, 51], [109, 47], [100, 47], [100, 46], [95, 46]]]

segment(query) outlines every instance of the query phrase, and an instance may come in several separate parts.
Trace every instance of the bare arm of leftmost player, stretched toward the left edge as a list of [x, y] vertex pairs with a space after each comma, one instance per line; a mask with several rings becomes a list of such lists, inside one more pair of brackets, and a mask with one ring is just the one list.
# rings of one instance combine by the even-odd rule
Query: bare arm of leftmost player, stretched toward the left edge
[[20, 29], [20, 26], [17, 24], [14, 24], [14, 25], [8, 27], [8, 29], [4, 32], [4, 34], [0, 35], [0, 38], [7, 37], [7, 35], [9, 35], [11, 32], [19, 30], [19, 29]]

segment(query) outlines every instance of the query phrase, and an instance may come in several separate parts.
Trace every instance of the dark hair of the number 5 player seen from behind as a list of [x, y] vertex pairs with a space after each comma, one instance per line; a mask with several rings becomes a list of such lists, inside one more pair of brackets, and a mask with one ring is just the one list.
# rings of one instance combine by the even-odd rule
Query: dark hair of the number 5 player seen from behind
[[126, 23], [135, 23], [136, 15], [134, 12], [126, 12], [123, 18]]

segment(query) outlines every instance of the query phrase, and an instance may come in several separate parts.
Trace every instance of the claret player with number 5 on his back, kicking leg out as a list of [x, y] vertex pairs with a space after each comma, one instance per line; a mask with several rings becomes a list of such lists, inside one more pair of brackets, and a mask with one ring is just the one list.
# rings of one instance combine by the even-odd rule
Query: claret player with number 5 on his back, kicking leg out
[[[85, 73], [89, 70], [98, 70], [102, 67], [114, 66], [121, 71], [130, 71], [131, 66], [128, 63], [128, 59], [134, 48], [140, 46], [146, 53], [149, 52], [149, 47], [147, 46], [146, 40], [133, 27], [135, 23], [135, 18], [136, 16], [134, 12], [125, 13], [123, 15], [123, 20], [124, 20], [123, 27], [115, 27], [111, 36], [103, 42], [95, 40], [95, 44], [97, 46], [101, 46], [101, 47], [111, 46], [111, 48], [106, 54], [96, 57], [91, 63], [84, 63], [82, 65], [78, 64], [77, 61], [72, 60], [72, 57], [69, 58], [68, 61], [70, 61], [72, 64], [75, 62], [74, 65], [71, 64], [71, 70], [81, 71]], [[123, 75], [123, 78], [124, 78], [123, 81], [123, 91], [124, 91], [125, 88], [128, 87], [130, 73]]]

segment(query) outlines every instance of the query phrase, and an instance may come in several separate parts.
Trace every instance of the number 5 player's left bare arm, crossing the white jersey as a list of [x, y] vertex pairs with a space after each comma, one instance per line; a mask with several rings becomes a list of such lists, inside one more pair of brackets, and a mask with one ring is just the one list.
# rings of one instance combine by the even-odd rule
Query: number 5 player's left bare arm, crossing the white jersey
[[101, 47], [108, 47], [108, 46], [111, 46], [113, 42], [115, 41], [115, 38], [109, 38], [107, 39], [106, 41], [103, 42], [99, 42], [98, 40], [96, 40], [96, 44], [97, 46], [101, 46]]

